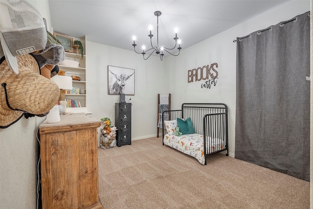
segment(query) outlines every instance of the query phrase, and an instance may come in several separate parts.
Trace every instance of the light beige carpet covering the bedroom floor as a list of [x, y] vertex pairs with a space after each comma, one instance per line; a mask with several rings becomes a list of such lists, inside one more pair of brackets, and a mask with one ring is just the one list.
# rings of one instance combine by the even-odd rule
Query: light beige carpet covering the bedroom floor
[[310, 182], [218, 153], [207, 165], [162, 139], [98, 149], [104, 209], [309, 209]]

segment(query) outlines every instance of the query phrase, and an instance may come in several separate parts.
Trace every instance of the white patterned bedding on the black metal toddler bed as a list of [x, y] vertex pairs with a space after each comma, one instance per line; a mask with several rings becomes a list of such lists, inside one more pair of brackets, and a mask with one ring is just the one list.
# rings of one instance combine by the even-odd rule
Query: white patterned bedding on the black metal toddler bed
[[[224, 148], [224, 143], [220, 139], [210, 138], [209, 153]], [[164, 144], [179, 150], [187, 155], [196, 158], [201, 164], [205, 163], [205, 155], [203, 149], [203, 135], [200, 134], [185, 134], [175, 136], [174, 134], [166, 134], [163, 139]], [[208, 144], [208, 143], [207, 143]]]

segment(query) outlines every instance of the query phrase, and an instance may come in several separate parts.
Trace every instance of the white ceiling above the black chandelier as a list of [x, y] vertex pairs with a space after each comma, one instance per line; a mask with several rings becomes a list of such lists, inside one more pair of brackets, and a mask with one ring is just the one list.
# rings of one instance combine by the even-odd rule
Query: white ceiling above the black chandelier
[[134, 50], [135, 35], [136, 50], [141, 52], [142, 45], [150, 46], [150, 24], [156, 45], [157, 10], [162, 13], [158, 20], [158, 46], [174, 47], [177, 27], [183, 50], [288, 1], [49, 0], [49, 7], [54, 32], [72, 37], [86, 35], [88, 41], [127, 50]]

